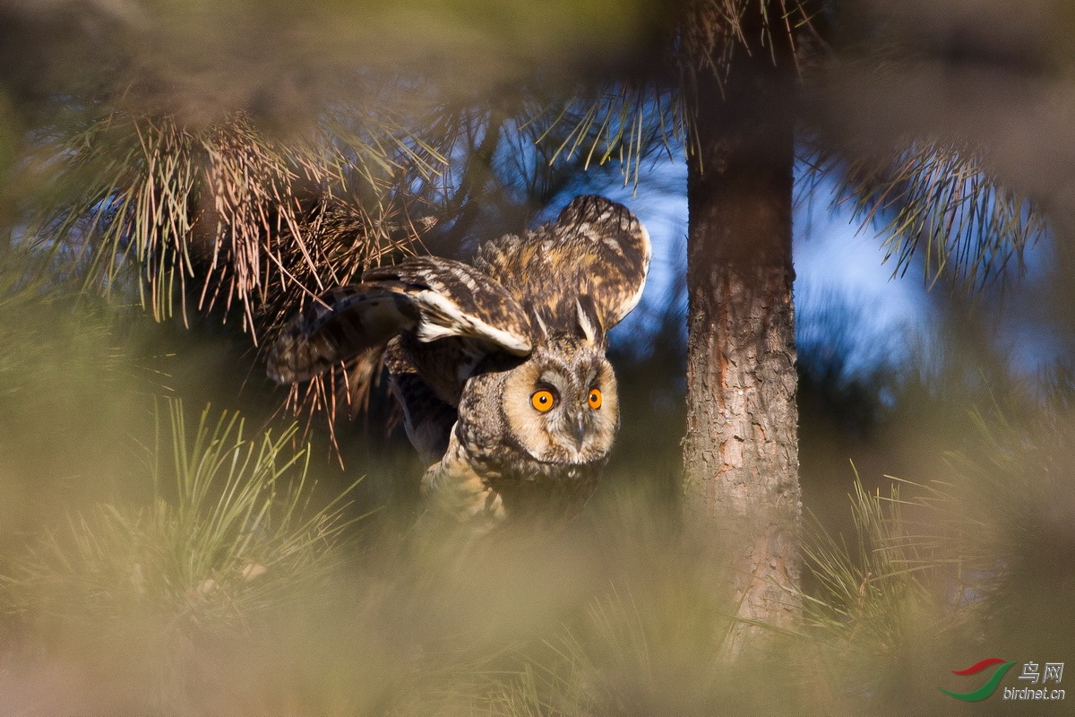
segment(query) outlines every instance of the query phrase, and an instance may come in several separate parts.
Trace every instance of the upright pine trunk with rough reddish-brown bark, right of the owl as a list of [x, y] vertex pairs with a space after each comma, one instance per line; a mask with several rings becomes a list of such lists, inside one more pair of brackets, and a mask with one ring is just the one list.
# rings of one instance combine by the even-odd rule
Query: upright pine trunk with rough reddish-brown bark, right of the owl
[[[800, 573], [796, 76], [790, 42], [778, 29], [773, 35], [775, 51], [758, 43], [748, 55], [736, 45], [721, 83], [712, 69], [698, 71], [687, 184], [685, 507], [731, 551], [740, 617], [787, 626], [798, 614], [788, 589]], [[730, 647], [737, 651], [746, 635], [734, 631]]]

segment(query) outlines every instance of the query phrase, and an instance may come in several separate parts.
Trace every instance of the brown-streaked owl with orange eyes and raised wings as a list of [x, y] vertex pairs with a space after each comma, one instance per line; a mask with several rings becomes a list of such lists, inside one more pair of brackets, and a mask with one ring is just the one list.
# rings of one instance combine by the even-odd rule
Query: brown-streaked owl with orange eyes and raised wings
[[642, 297], [649, 234], [627, 207], [575, 198], [556, 221], [415, 257], [330, 290], [269, 352], [281, 384], [386, 346], [391, 393], [427, 465], [424, 492], [468, 520], [570, 518], [619, 428], [606, 332]]

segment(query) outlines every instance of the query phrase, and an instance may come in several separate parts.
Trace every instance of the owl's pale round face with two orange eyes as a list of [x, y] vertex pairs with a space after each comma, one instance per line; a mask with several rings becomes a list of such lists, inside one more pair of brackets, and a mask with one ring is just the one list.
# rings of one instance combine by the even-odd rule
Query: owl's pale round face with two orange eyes
[[573, 336], [548, 341], [508, 371], [501, 392], [504, 436], [549, 465], [604, 462], [619, 428], [616, 376], [603, 347]]

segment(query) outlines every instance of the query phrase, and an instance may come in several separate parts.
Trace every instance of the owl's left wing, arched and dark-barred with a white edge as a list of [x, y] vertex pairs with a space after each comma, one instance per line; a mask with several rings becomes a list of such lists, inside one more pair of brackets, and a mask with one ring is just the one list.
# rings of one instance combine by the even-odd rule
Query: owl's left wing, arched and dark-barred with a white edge
[[269, 375], [306, 381], [404, 332], [421, 343], [469, 339], [514, 356], [532, 349], [530, 319], [503, 286], [459, 261], [417, 257], [307, 304], [269, 352]]

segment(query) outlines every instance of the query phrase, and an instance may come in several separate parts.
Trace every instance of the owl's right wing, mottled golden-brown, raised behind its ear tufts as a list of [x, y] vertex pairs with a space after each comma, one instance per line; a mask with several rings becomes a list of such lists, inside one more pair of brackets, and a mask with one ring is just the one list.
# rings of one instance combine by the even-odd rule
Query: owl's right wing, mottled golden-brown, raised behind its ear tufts
[[637, 305], [651, 257], [649, 232], [629, 209], [585, 195], [554, 223], [487, 242], [475, 264], [560, 329], [586, 324], [579, 299], [588, 297], [607, 331]]

